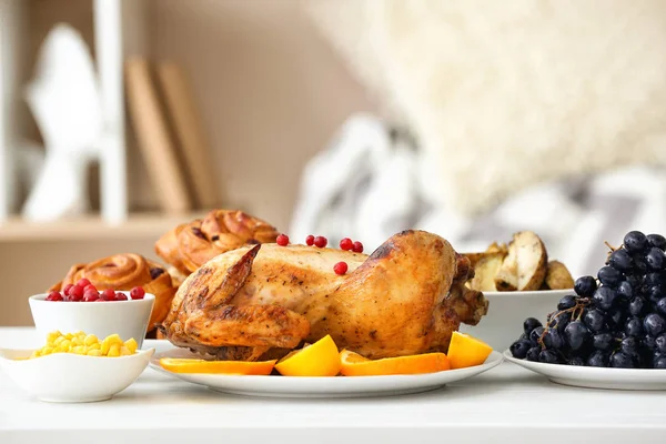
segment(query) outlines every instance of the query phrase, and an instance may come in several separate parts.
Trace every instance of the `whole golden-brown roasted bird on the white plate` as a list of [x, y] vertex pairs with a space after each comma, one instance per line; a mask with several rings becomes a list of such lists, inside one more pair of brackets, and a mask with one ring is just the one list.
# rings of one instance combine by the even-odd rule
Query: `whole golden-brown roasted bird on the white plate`
[[[349, 271], [337, 275], [333, 265]], [[160, 326], [209, 359], [275, 357], [330, 334], [340, 349], [381, 359], [446, 352], [461, 322], [486, 314], [465, 287], [470, 261], [438, 235], [404, 231], [372, 254], [275, 243], [203, 264], [178, 290]]]

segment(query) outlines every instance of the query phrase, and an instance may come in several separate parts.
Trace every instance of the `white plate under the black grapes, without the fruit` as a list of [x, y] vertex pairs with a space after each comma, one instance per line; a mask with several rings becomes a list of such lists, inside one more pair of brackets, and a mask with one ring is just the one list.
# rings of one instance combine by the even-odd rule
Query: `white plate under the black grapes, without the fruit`
[[599, 369], [563, 364], [544, 364], [518, 360], [506, 350], [504, 357], [527, 370], [546, 376], [554, 383], [587, 389], [666, 390], [666, 370]]

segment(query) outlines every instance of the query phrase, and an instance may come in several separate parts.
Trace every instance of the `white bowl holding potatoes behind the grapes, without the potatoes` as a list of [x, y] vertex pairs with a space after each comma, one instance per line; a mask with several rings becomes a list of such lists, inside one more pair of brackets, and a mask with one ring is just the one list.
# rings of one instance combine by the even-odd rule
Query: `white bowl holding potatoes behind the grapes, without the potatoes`
[[477, 337], [494, 350], [506, 350], [523, 334], [523, 322], [536, 317], [546, 323], [548, 313], [557, 311], [557, 303], [573, 290], [541, 290], [532, 292], [484, 292], [488, 314], [478, 325], [461, 324], [460, 331]]

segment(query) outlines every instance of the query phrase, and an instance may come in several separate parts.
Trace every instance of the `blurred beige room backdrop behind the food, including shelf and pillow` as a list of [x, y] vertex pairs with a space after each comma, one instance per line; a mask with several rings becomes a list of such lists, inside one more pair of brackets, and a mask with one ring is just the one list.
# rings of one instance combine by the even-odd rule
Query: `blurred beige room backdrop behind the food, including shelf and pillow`
[[666, 4], [0, 0], [0, 325], [209, 209], [366, 251], [666, 232]]

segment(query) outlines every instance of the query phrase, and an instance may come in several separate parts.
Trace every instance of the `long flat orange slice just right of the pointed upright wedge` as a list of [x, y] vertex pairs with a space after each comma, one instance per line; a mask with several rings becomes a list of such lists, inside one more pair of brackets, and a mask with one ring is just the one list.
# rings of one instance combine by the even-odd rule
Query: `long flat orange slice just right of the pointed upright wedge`
[[341, 373], [345, 376], [376, 376], [395, 374], [434, 373], [451, 369], [444, 353], [424, 353], [410, 356], [369, 360], [357, 353], [340, 352]]

